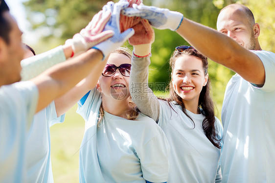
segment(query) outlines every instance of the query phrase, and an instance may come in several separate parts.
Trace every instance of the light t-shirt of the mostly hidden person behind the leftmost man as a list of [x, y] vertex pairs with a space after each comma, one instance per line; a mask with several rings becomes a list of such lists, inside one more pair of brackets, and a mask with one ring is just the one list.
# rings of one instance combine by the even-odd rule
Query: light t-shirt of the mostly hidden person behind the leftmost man
[[26, 139], [27, 183], [53, 183], [49, 128], [64, 119], [65, 114], [57, 117], [54, 102], [34, 115]]

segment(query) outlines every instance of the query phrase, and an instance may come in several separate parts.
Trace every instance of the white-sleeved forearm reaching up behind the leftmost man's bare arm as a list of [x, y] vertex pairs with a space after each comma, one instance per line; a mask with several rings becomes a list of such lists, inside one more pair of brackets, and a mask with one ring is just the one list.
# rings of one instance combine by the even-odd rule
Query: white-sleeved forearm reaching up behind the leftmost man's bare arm
[[45, 53], [24, 59], [21, 61], [22, 81], [34, 78], [46, 69], [66, 61], [72, 54], [71, 46], [58, 46]]

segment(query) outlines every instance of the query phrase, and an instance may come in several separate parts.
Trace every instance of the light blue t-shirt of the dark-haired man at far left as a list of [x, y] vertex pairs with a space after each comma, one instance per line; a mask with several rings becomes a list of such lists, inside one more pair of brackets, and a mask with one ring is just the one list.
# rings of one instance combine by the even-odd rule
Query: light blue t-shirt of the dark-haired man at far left
[[0, 87], [0, 183], [25, 181], [26, 132], [38, 101], [29, 81]]

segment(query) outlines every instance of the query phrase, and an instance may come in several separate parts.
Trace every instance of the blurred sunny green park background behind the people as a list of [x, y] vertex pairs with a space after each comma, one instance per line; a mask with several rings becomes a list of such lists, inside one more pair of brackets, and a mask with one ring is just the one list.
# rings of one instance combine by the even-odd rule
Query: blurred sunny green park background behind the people
[[[42, 53], [64, 44], [65, 40], [84, 28], [92, 16], [109, 0], [23, 1], [27, 19], [31, 23], [30, 29], [34, 32], [32, 38], [39, 37], [39, 41], [35, 44], [32, 40], [24, 40], [24, 42], [32, 46], [37, 53]], [[251, 8], [255, 21], [261, 26], [259, 37], [261, 47], [275, 52], [275, 39], [273, 39], [275, 30], [274, 0], [260, 2], [258, 0], [143, 0], [146, 5], [179, 11], [183, 13], [184, 17], [214, 29], [221, 8], [236, 2]], [[163, 96], [166, 95], [165, 87], [156, 87], [156, 84], [168, 84], [170, 80], [169, 58], [176, 46], [188, 45], [188, 43], [170, 30], [155, 29], [155, 33], [149, 82], [153, 83], [153, 91], [159, 96]], [[125, 46], [131, 47], [127, 43]], [[225, 87], [233, 74], [233, 71], [209, 60], [212, 96], [216, 104], [216, 115], [219, 118]], [[51, 155], [55, 183], [78, 182], [78, 155], [84, 133], [84, 121], [80, 115], [75, 114], [75, 110], [76, 106], [67, 113], [64, 124], [56, 124], [51, 127]]]

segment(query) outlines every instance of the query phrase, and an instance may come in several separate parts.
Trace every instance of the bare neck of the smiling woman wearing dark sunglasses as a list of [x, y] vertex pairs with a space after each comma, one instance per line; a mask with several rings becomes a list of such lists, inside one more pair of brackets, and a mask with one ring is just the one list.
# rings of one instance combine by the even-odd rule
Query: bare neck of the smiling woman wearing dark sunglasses
[[125, 118], [125, 112], [130, 109], [129, 100], [130, 97], [124, 100], [115, 100], [102, 96], [102, 107], [107, 113]]

